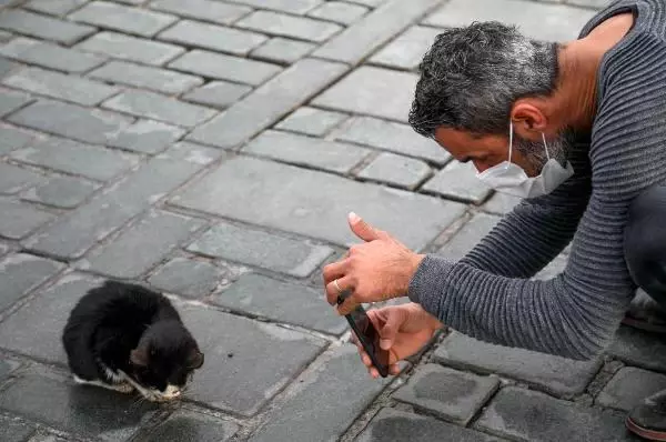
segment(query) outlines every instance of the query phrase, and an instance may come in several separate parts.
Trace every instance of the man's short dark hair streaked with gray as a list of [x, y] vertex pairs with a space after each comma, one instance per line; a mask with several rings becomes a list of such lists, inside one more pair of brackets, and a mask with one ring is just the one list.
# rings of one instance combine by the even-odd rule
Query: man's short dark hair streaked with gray
[[445, 30], [418, 67], [410, 124], [430, 138], [438, 127], [506, 133], [517, 99], [555, 91], [557, 48], [496, 21]]

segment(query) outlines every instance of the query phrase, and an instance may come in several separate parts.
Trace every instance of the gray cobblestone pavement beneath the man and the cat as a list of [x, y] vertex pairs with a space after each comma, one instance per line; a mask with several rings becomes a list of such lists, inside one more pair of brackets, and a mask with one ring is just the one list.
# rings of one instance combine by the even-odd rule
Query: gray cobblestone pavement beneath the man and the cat
[[[515, 203], [405, 124], [442, 28], [568, 39], [605, 3], [0, 1], [0, 440], [632, 440], [654, 338], [581, 363], [442, 334], [372, 381], [321, 287], [351, 210], [456, 259]], [[72, 385], [101, 278], [173, 295], [206, 353], [186, 400]]]

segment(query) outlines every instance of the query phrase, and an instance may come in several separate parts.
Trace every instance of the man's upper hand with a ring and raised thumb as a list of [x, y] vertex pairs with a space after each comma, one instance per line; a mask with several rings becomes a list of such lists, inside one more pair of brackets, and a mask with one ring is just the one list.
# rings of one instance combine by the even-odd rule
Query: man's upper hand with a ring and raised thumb
[[354, 234], [365, 243], [353, 245], [342, 261], [324, 268], [329, 303], [335, 305], [337, 297], [349, 292], [345, 302], [337, 307], [341, 314], [347, 314], [360, 303], [406, 295], [423, 255], [354, 213], [350, 213], [349, 222]]

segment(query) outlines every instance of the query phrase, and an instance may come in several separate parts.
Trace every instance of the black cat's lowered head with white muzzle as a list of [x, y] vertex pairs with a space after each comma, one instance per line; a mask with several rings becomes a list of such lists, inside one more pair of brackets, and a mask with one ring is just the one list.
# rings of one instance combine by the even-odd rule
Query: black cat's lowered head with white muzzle
[[182, 323], [161, 321], [143, 333], [130, 364], [143, 395], [167, 401], [181, 395], [190, 375], [203, 365], [203, 353]]

